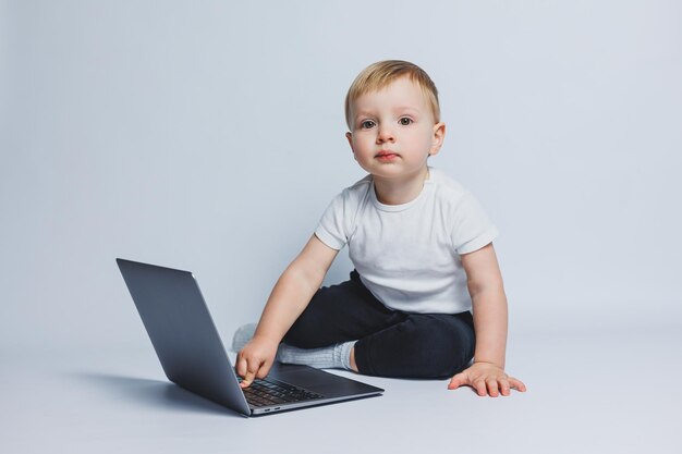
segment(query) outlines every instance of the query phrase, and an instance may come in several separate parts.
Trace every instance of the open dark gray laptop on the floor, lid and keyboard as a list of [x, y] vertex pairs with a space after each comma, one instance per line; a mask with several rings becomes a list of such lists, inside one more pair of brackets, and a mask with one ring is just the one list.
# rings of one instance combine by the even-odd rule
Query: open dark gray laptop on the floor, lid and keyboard
[[118, 258], [117, 263], [166, 377], [244, 416], [380, 395], [383, 390], [308, 366], [275, 363], [242, 390], [190, 271]]

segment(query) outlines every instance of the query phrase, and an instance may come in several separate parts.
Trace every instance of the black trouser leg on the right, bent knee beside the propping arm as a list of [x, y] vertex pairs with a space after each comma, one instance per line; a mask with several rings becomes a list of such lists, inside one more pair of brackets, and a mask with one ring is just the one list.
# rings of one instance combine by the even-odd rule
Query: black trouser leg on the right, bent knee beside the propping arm
[[411, 314], [406, 320], [355, 343], [360, 373], [442, 379], [466, 367], [474, 356], [470, 312]]

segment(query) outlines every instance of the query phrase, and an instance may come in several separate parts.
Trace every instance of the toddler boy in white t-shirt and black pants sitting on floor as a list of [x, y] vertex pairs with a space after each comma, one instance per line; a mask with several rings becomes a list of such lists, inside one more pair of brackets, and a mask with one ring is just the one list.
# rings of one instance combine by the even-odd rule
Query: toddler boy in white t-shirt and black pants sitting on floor
[[[235, 334], [242, 386], [265, 378], [277, 358], [382, 377], [451, 377], [450, 389], [468, 385], [479, 395], [525, 391], [504, 372], [497, 229], [470, 192], [427, 164], [446, 135], [435, 84], [412, 63], [375, 63], [351, 85], [345, 118], [368, 175], [331, 201], [257, 328]], [[346, 245], [351, 279], [320, 289]]]

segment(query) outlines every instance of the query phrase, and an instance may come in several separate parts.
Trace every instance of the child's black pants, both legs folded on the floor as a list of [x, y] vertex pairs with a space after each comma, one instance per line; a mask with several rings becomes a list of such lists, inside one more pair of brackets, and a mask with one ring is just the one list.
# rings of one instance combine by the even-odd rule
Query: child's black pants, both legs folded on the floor
[[442, 379], [466, 367], [474, 356], [471, 312], [409, 314], [383, 306], [351, 280], [321, 287], [283, 339], [300, 348], [355, 341], [361, 373], [380, 377]]

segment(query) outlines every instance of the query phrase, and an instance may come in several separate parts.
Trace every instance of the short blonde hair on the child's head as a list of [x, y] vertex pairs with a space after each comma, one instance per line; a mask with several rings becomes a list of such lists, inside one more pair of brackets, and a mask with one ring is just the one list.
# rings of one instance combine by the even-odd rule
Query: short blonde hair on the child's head
[[440, 121], [440, 105], [438, 103], [438, 89], [434, 81], [414, 63], [402, 60], [383, 60], [365, 68], [351, 84], [345, 95], [345, 123], [353, 130], [351, 121], [351, 103], [369, 91], [378, 91], [397, 78], [407, 76], [422, 88], [428, 99], [431, 113], [436, 123]]

